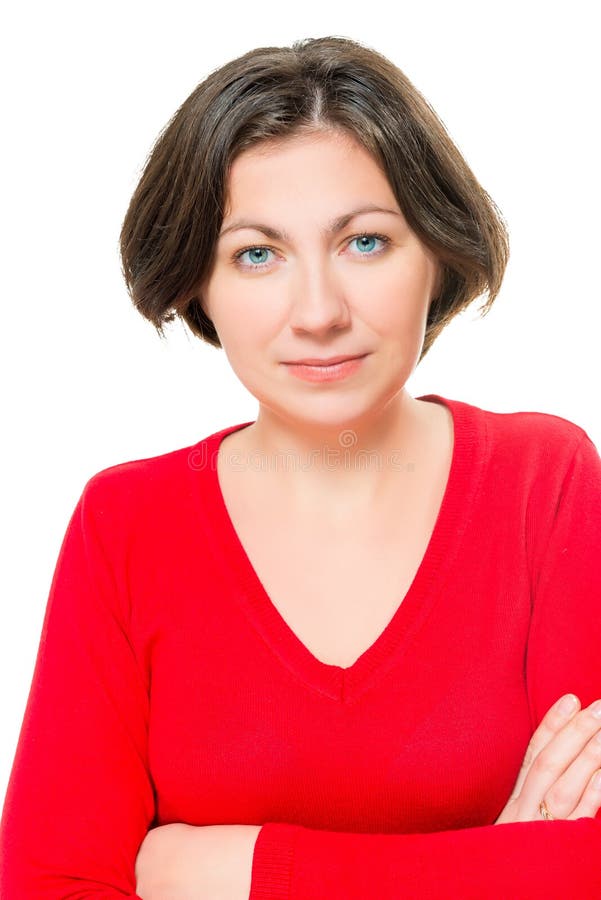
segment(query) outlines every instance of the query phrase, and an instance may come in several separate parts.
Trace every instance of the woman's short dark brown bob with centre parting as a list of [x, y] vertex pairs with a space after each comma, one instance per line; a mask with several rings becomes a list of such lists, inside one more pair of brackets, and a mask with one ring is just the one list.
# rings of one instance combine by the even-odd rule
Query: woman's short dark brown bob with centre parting
[[227, 202], [229, 167], [269, 139], [350, 135], [386, 175], [409, 227], [441, 263], [425, 356], [443, 328], [484, 291], [485, 315], [509, 258], [502, 215], [442, 121], [392, 62], [343, 37], [259, 47], [202, 81], [159, 134], [120, 234], [122, 271], [139, 312], [164, 337], [179, 316], [214, 347], [202, 308]]

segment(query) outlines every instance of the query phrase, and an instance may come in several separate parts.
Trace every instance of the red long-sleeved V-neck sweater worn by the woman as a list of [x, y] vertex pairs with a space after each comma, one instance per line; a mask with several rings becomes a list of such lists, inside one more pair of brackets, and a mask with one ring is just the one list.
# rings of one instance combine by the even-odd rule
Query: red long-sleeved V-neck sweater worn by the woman
[[[348, 668], [237, 537], [220, 440], [85, 484], [0, 823], [2, 900], [135, 894], [147, 831], [262, 825], [250, 900], [592, 898], [601, 817], [494, 826], [528, 739], [601, 696], [601, 460], [582, 428], [430, 394], [455, 423], [411, 587]], [[342, 627], [342, 623], [341, 623]]]

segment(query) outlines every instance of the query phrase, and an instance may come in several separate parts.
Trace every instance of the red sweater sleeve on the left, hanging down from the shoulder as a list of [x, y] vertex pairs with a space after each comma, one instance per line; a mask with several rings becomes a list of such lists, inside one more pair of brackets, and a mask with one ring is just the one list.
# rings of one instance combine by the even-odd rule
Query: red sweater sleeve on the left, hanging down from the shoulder
[[114, 563], [119, 520], [93, 481], [50, 586], [0, 822], [2, 900], [140, 900], [135, 858], [155, 811], [149, 696]]

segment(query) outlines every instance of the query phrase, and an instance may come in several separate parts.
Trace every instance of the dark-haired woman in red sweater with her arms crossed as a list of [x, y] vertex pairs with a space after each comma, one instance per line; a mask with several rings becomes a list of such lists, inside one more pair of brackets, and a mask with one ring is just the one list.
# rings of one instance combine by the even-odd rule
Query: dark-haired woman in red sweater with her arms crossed
[[161, 134], [121, 248], [259, 410], [85, 485], [3, 898], [596, 895], [601, 460], [407, 392], [508, 256], [425, 100], [350, 40], [253, 50]]

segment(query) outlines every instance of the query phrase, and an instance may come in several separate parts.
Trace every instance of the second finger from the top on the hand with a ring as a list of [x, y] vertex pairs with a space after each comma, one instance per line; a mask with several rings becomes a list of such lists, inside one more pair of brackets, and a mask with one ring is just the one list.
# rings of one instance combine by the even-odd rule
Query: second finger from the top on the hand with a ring
[[[553, 784], [582, 752], [601, 725], [601, 700], [573, 716], [532, 761], [520, 791], [523, 809], [538, 805]], [[554, 811], [550, 810], [551, 812]]]

